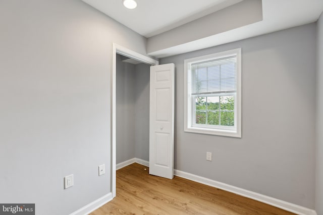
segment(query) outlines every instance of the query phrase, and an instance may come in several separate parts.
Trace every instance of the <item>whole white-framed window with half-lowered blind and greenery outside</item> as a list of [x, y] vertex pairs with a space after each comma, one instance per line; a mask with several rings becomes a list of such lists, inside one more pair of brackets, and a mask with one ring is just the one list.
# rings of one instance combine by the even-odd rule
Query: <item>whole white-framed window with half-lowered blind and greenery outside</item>
[[184, 130], [241, 137], [241, 49], [184, 61]]

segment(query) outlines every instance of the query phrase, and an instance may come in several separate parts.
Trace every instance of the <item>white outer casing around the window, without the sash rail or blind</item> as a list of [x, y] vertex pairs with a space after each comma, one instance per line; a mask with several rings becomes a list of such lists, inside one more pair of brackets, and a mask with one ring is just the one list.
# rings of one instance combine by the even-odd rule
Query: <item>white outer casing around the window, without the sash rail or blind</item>
[[[237, 56], [237, 95], [235, 97], [235, 127], [234, 131], [228, 129], [210, 129], [192, 126], [192, 105], [191, 105], [191, 77], [188, 76], [190, 72], [191, 63], [199, 62], [201, 60], [211, 60], [227, 56]], [[203, 133], [211, 135], [232, 136], [241, 138], [241, 48], [223, 51], [215, 54], [208, 54], [184, 60], [184, 131], [193, 133]]]

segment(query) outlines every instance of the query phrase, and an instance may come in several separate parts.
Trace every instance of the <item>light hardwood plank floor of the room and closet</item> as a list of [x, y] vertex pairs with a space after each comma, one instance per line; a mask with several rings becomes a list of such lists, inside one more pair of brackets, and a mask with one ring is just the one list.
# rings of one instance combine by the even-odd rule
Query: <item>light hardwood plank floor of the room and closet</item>
[[152, 176], [135, 163], [117, 171], [117, 196], [90, 214], [294, 213], [180, 177]]

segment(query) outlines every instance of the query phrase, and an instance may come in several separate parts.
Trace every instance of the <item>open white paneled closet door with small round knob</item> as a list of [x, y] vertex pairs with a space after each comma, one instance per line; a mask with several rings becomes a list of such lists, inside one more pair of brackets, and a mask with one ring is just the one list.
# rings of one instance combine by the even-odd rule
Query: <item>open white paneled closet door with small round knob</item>
[[150, 67], [149, 174], [174, 177], [174, 63]]

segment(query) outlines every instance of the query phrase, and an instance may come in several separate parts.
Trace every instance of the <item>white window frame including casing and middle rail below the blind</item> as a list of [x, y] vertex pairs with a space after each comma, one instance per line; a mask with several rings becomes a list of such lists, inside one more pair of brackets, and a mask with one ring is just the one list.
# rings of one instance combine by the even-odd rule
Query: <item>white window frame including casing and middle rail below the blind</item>
[[[199, 125], [195, 123], [195, 97], [191, 95], [191, 64], [224, 57], [237, 56], [237, 92], [230, 94], [208, 94], [207, 96], [235, 96], [235, 126]], [[200, 95], [200, 97], [203, 95]], [[206, 96], [206, 95], [205, 95]], [[194, 120], [193, 120], [194, 119]], [[184, 60], [184, 131], [221, 136], [241, 137], [241, 48], [223, 51]]]

